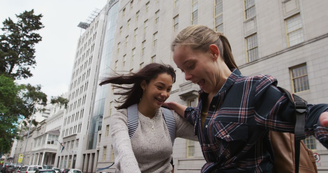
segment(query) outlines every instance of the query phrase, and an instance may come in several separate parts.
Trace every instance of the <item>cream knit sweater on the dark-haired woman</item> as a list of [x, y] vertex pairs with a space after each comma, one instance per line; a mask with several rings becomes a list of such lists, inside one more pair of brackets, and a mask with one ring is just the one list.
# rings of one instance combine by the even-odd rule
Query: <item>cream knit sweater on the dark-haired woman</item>
[[[198, 141], [194, 136], [194, 126], [173, 111], [176, 124], [175, 137]], [[120, 109], [110, 118], [110, 127], [115, 154], [115, 172], [158, 172], [170, 173], [172, 170], [172, 142], [166, 127], [162, 110], [157, 109], [154, 118], [154, 131], [151, 119], [138, 111], [139, 124], [130, 140], [128, 133], [127, 109]]]

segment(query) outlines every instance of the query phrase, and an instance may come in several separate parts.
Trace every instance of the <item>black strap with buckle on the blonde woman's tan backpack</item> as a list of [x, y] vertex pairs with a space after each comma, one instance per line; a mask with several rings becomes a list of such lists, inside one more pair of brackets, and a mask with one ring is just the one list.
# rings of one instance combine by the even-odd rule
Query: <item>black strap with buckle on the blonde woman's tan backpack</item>
[[295, 105], [295, 172], [298, 173], [299, 170], [299, 149], [301, 140], [305, 139], [305, 114], [307, 103], [297, 95], [289, 92], [288, 90], [278, 87], [280, 91], [287, 94], [288, 99]]

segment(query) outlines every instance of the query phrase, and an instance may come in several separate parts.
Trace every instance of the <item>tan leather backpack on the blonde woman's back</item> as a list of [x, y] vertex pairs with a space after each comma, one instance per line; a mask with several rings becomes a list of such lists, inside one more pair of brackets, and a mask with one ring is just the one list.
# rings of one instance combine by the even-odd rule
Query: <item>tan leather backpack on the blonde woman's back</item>
[[307, 148], [305, 139], [305, 111], [306, 101], [288, 90], [278, 87], [285, 92], [291, 102], [295, 103], [296, 125], [293, 133], [270, 131], [270, 140], [275, 155], [274, 173], [317, 173], [316, 160], [312, 150]]

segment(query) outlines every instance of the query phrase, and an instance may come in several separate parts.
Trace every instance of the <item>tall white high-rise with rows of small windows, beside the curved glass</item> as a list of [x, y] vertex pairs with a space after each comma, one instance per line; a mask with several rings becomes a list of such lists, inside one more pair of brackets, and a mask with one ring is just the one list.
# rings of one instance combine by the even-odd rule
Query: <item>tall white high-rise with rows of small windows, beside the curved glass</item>
[[93, 105], [98, 84], [104, 19], [104, 10], [96, 9], [86, 22], [78, 25], [84, 32], [76, 45], [68, 91], [69, 103], [58, 138], [64, 149], [61, 145], [57, 146], [55, 167], [76, 168], [83, 172], [95, 169], [92, 162], [95, 152], [88, 148], [97, 140], [96, 132], [101, 128], [100, 124], [94, 132], [95, 119], [101, 122], [102, 117], [93, 116]]

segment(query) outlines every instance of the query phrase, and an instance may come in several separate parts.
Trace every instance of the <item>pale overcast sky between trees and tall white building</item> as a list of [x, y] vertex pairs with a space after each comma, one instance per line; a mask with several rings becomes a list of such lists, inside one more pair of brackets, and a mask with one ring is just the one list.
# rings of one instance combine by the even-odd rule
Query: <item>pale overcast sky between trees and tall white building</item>
[[[95, 9], [102, 9], [107, 0], [1, 0], [0, 28], [2, 22], [24, 10], [34, 9], [42, 14], [41, 22], [45, 26], [39, 31], [42, 41], [35, 46], [36, 67], [31, 70], [33, 76], [16, 81], [21, 84], [42, 85], [42, 91], [58, 96], [68, 91], [77, 40], [84, 22]], [[15, 20], [14, 20], [15, 21]], [[83, 32], [83, 30], [82, 30]]]

